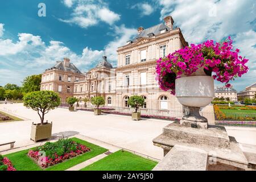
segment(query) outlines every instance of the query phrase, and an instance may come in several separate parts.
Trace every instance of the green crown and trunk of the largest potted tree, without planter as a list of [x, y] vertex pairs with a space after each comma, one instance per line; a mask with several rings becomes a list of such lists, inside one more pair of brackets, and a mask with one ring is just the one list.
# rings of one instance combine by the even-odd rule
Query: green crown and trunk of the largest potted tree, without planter
[[23, 100], [24, 106], [38, 112], [41, 125], [44, 123], [44, 115], [60, 105], [59, 94], [49, 90], [27, 93], [23, 97]]

